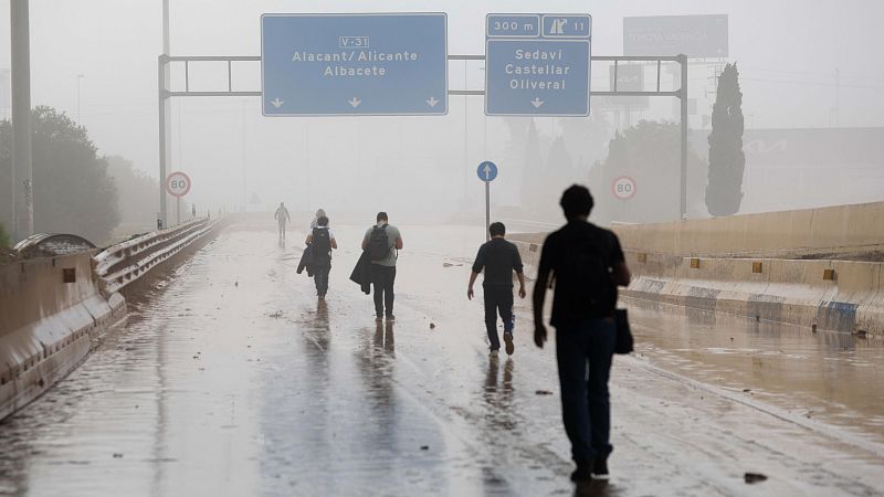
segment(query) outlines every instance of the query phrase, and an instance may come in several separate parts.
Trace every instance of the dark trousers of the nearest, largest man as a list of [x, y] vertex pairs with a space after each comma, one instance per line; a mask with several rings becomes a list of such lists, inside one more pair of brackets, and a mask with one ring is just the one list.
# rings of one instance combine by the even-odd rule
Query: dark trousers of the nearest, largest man
[[590, 318], [556, 330], [561, 414], [577, 464], [608, 457], [613, 450], [608, 378], [615, 338], [613, 318]]

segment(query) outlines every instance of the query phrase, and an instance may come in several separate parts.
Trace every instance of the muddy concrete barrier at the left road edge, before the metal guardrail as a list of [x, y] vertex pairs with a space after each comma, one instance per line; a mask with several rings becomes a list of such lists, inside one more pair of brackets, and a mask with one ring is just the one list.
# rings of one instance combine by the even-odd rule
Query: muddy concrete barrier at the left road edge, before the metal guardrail
[[98, 290], [94, 253], [0, 266], [0, 420], [67, 376], [94, 339], [125, 322], [124, 298]]

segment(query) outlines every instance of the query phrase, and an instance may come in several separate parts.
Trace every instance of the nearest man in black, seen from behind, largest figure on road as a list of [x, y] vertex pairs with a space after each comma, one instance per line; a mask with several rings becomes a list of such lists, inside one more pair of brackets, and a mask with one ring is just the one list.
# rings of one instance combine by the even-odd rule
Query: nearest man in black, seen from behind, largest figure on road
[[556, 328], [562, 421], [577, 464], [571, 479], [608, 479], [617, 285], [629, 285], [630, 273], [617, 235], [587, 221], [589, 190], [568, 188], [560, 205], [568, 223], [544, 242], [534, 285], [534, 341], [540, 348], [546, 341], [544, 299], [547, 285], [555, 282], [550, 324]]

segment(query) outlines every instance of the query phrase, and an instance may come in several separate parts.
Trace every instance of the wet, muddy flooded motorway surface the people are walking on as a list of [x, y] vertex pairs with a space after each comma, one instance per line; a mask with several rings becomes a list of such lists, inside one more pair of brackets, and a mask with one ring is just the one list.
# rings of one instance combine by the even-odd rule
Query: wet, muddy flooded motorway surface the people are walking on
[[[0, 495], [884, 491], [873, 342], [827, 361], [841, 352], [800, 331], [635, 306], [639, 355], [612, 376], [612, 479], [576, 489], [555, 353], [532, 345], [528, 302], [515, 355], [490, 360], [481, 299], [465, 298], [481, 229], [400, 226], [397, 321], [376, 325], [347, 279], [367, 226], [334, 226], [343, 248], [324, 303], [294, 272], [302, 233], [281, 245], [273, 224], [242, 228], [0, 425]], [[832, 369], [793, 371], [811, 361]], [[835, 392], [814, 371], [875, 392]], [[769, 479], [747, 485], [746, 472]]]

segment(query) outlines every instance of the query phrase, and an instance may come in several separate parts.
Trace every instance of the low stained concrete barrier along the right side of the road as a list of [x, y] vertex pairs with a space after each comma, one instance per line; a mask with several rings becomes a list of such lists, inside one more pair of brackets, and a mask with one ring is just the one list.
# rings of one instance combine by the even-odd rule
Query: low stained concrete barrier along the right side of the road
[[628, 252], [625, 297], [810, 329], [884, 335], [884, 263]]

